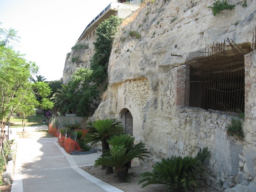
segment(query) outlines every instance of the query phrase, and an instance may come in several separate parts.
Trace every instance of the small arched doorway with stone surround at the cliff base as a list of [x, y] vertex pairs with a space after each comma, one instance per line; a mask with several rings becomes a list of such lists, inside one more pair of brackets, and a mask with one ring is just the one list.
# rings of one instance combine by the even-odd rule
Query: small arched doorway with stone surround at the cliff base
[[124, 130], [127, 134], [133, 136], [133, 117], [132, 113], [127, 109], [124, 108], [119, 113], [120, 121], [124, 126]]

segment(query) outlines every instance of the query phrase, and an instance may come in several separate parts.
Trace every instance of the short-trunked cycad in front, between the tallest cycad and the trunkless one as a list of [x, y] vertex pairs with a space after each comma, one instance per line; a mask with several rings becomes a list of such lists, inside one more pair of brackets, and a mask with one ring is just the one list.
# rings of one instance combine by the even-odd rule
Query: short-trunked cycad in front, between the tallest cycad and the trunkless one
[[147, 156], [147, 149], [145, 144], [138, 143], [130, 148], [127, 152], [125, 145], [114, 145], [110, 148], [110, 155], [96, 160], [96, 165], [105, 165], [115, 168], [119, 181], [124, 182], [126, 176], [126, 164], [133, 158], [143, 159], [143, 156]]

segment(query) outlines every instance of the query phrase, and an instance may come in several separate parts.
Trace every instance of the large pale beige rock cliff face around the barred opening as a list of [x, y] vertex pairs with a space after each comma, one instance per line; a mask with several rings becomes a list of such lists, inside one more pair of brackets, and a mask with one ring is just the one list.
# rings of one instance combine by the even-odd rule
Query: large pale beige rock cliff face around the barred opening
[[[136, 141], [146, 143], [152, 153], [144, 163], [171, 155], [194, 155], [207, 146], [212, 152], [208, 184], [226, 191], [255, 191], [256, 51], [251, 47], [256, 0], [215, 17], [207, 8], [213, 2], [160, 0], [141, 9], [132, 23], [121, 26], [109, 59], [108, 95], [93, 119], [118, 118], [125, 126], [129, 111]], [[227, 135], [231, 116], [184, 107], [178, 102], [183, 96], [177, 81], [184, 78], [179, 74], [186, 56], [226, 38], [248, 53], [244, 141]], [[223, 186], [218, 185], [219, 181]]]

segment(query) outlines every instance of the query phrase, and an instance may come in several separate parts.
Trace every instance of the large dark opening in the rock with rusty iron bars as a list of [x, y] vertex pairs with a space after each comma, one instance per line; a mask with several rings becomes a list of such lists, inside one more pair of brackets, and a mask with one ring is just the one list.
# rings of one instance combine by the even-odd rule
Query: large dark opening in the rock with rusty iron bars
[[228, 115], [245, 111], [243, 51], [229, 39], [211, 49], [189, 53], [186, 59], [184, 105]]

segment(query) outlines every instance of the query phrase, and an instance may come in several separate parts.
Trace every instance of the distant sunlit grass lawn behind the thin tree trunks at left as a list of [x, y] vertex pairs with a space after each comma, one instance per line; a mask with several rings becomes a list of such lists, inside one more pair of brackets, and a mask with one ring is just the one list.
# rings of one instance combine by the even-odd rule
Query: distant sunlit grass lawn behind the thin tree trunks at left
[[[45, 124], [48, 125], [48, 119], [46, 117], [41, 117], [41, 114], [36, 114], [36, 116], [28, 116], [25, 119], [25, 125], [26, 127], [44, 125], [43, 118], [46, 119]], [[11, 127], [22, 127], [21, 117], [16, 115], [11, 116], [10, 125]]]

